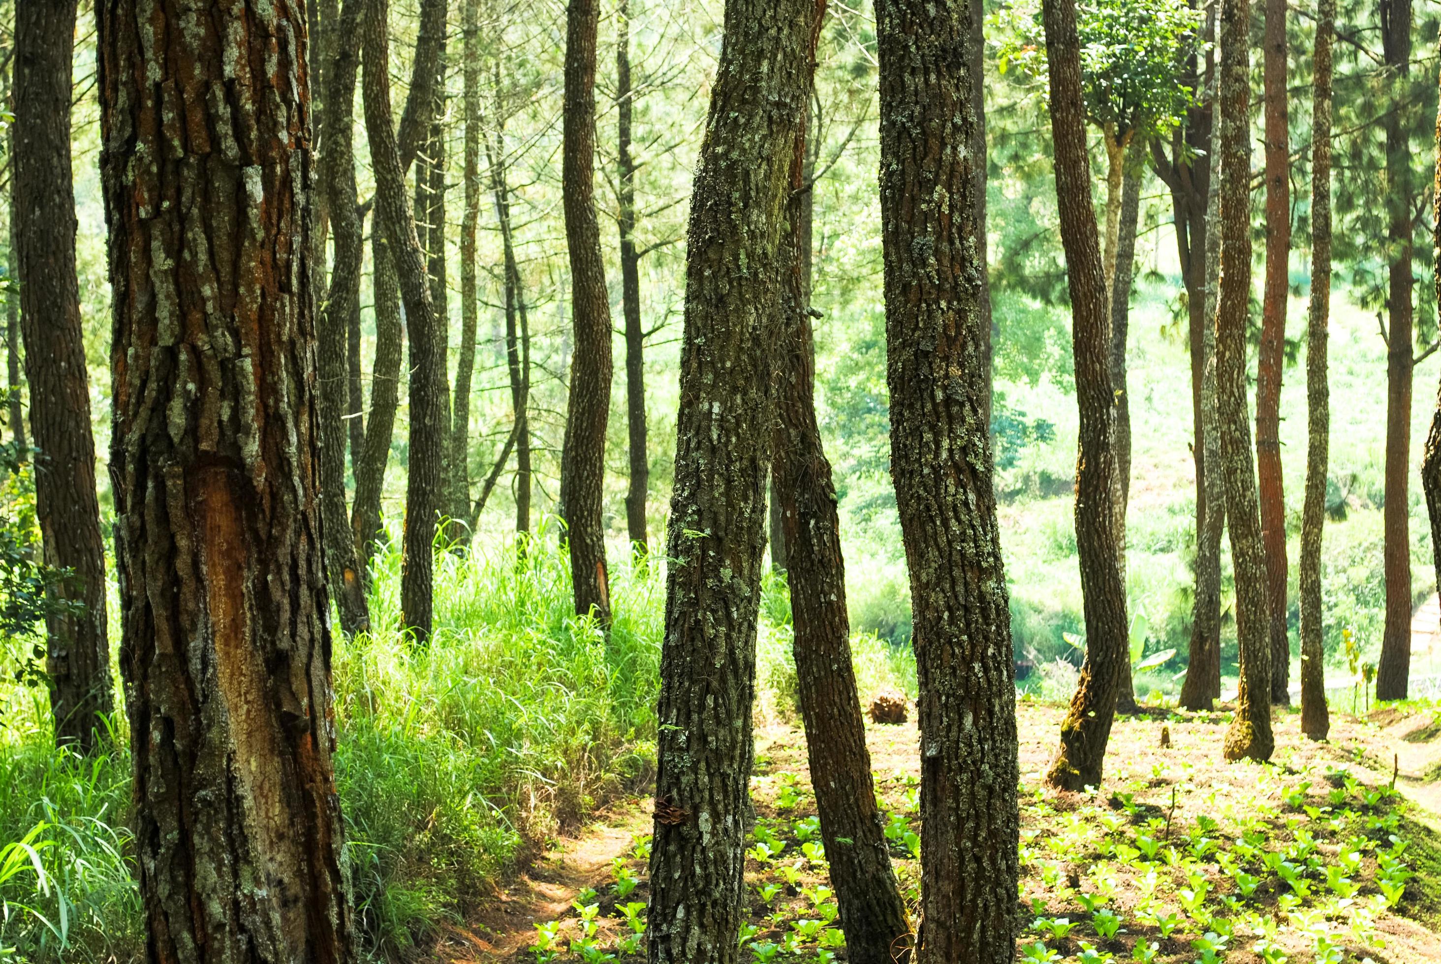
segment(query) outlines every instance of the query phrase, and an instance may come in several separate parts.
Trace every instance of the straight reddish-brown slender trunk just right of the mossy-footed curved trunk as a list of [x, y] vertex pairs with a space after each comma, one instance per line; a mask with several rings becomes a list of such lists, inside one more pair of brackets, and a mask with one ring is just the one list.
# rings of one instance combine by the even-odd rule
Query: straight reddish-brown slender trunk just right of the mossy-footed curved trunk
[[1290, 703], [1291, 644], [1285, 634], [1285, 499], [1281, 487], [1281, 367], [1290, 290], [1291, 160], [1287, 131], [1285, 0], [1265, 0], [1265, 294], [1257, 362], [1257, 476], [1265, 545], [1271, 702]]

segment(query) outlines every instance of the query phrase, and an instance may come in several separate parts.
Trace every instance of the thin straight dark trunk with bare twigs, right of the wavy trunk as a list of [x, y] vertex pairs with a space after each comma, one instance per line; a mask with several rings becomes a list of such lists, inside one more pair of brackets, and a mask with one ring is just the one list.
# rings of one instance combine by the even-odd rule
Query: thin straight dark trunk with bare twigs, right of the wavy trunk
[[625, 314], [625, 425], [630, 434], [630, 486], [625, 529], [631, 548], [646, 555], [646, 494], [650, 455], [646, 450], [646, 333], [640, 326], [640, 254], [635, 251], [635, 163], [631, 160], [630, 0], [621, 0], [615, 42], [615, 166], [620, 183], [621, 310]]

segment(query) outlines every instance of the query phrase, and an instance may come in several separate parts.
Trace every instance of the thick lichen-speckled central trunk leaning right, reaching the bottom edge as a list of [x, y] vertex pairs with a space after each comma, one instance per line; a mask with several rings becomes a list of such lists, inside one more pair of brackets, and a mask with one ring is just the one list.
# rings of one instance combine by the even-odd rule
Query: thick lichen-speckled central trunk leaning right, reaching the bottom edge
[[[745, 914], [780, 241], [814, 0], [726, 0], [690, 195], [650, 859], [651, 964], [731, 964]], [[1010, 899], [1014, 901], [1014, 891]]]

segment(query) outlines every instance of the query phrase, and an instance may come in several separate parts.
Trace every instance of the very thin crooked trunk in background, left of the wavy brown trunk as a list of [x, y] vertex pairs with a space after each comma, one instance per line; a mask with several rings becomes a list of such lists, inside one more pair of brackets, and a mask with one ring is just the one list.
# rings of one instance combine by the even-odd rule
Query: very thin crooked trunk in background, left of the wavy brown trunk
[[510, 189], [506, 184], [506, 140], [500, 111], [500, 66], [496, 65], [496, 144], [486, 140], [490, 187], [500, 223], [500, 246], [506, 278], [506, 369], [510, 375], [510, 408], [516, 424], [516, 532], [530, 532], [530, 323], [526, 293], [520, 284], [514, 233], [510, 226]]

